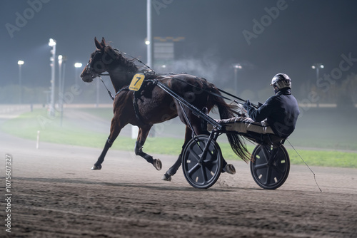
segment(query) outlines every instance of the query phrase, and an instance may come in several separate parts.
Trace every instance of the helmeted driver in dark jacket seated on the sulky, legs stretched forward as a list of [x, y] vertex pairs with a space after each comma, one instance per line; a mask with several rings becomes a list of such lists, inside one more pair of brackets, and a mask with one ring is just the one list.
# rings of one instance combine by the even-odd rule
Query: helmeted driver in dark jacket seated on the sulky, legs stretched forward
[[271, 80], [275, 95], [271, 96], [258, 109], [246, 100], [243, 107], [248, 117], [216, 120], [224, 124], [226, 130], [240, 133], [274, 134], [279, 138], [288, 138], [295, 130], [296, 120], [300, 111], [298, 102], [291, 95], [291, 78], [285, 73], [278, 73]]

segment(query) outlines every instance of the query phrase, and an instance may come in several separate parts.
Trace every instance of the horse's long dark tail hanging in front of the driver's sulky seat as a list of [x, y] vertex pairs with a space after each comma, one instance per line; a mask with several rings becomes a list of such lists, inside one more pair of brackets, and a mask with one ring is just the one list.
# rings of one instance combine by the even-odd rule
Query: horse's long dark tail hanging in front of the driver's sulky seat
[[[211, 88], [211, 91], [217, 95], [221, 95], [221, 93], [217, 90], [217, 88]], [[221, 119], [233, 118], [235, 114], [237, 114], [236, 105], [226, 103], [223, 98], [217, 95], [209, 95], [214, 105], [218, 108], [219, 115]], [[228, 142], [231, 145], [232, 150], [245, 162], [251, 160], [251, 153], [246, 149], [246, 143], [241, 135], [236, 133], [226, 133]]]

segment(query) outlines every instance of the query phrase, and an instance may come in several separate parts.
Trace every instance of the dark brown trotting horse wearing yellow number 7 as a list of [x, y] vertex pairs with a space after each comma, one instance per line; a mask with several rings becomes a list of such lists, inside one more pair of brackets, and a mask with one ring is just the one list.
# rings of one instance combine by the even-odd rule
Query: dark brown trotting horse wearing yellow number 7
[[[186, 125], [185, 139], [183, 148], [192, 138], [193, 131], [196, 135], [208, 134], [208, 131], [202, 126], [202, 120], [192, 111], [183, 107], [175, 98], [171, 97], [164, 90], [156, 86], [150, 81], [144, 81], [141, 90], [129, 90], [129, 85], [136, 73], [149, 73], [149, 68], [140, 69], [141, 67], [134, 63], [136, 58], [126, 58], [124, 53], [116, 48], [107, 45], [104, 38], [99, 42], [94, 38], [96, 50], [91, 53], [89, 63], [85, 66], [81, 73], [81, 78], [84, 82], [91, 82], [94, 78], [101, 76], [104, 72], [109, 73], [111, 83], [115, 89], [113, 112], [114, 116], [111, 120], [111, 128], [109, 137], [106, 140], [104, 149], [99, 155], [98, 160], [94, 163], [92, 170], [101, 170], [102, 163], [106, 152], [111, 148], [114, 140], [118, 137], [121, 129], [125, 125], [131, 124], [139, 127], [139, 133], [136, 139], [134, 152], [136, 155], [143, 157], [147, 162], [150, 162], [156, 170], [161, 170], [162, 163], [159, 159], [154, 159], [151, 155], [143, 151], [143, 146], [151, 127], [156, 123], [162, 123], [166, 120], [176, 118], [177, 116]], [[163, 76], [154, 75], [151, 78], [164, 83], [171, 88], [175, 93], [181, 95], [189, 103], [206, 110], [206, 113], [216, 106], [220, 114], [220, 118], [231, 118], [236, 113], [234, 105], [226, 103], [223, 98], [219, 97], [221, 93], [217, 90], [213, 83], [209, 83], [204, 78], [198, 78], [188, 74], [167, 74]], [[209, 93], [212, 92], [212, 93]], [[190, 126], [190, 122], [191, 126]], [[236, 154], [243, 160], [248, 161], [249, 155], [245, 144], [240, 138], [240, 135], [227, 134], [228, 141]], [[176, 174], [178, 167], [181, 166], [181, 154], [178, 155], [177, 161], [166, 171], [162, 180], [171, 181], [171, 176]], [[227, 165], [223, 160], [223, 165], [227, 167], [227, 172], [233, 174], [235, 169], [233, 165]], [[230, 170], [230, 171], [228, 171]], [[223, 172], [224, 172], [223, 167]]]

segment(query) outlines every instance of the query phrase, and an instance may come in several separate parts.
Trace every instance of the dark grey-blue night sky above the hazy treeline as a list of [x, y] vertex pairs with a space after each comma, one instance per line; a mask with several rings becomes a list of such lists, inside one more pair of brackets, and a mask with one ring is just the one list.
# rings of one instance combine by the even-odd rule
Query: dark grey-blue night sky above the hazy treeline
[[[238, 76], [242, 90], [260, 90], [276, 73], [287, 73], [300, 86], [316, 79], [313, 63], [323, 63], [321, 75], [331, 73], [340, 67], [343, 54], [356, 61], [341, 80], [357, 72], [357, 1], [152, 1], [153, 36], [185, 37], [176, 47], [178, 62], [196, 62], [199, 71], [193, 73], [223, 88], [233, 80], [232, 63], [243, 66]], [[67, 81], [75, 76], [75, 62], [85, 65], [89, 60], [94, 36], [104, 36], [111, 46], [146, 61], [145, 0], [0, 4], [1, 87], [18, 83], [19, 60], [25, 61], [24, 86], [50, 86], [49, 38], [57, 42], [57, 56], [68, 58]], [[191, 68], [178, 66], [187, 73]]]

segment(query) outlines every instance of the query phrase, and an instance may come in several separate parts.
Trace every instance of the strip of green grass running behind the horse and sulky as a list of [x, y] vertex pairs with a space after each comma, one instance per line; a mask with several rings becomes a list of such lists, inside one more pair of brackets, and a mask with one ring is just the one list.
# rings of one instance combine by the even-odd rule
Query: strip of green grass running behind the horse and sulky
[[[106, 115], [109, 117], [110, 115]], [[36, 140], [37, 131], [40, 130], [41, 141], [67, 145], [80, 145], [91, 148], [103, 148], [108, 134], [96, 133], [81, 128], [80, 121], [64, 121], [62, 127], [59, 117], [49, 118], [46, 110], [34, 110], [24, 113], [18, 118], [7, 120], [1, 125], [1, 130], [20, 138]], [[125, 136], [119, 136], [112, 149], [134, 151], [135, 140]], [[149, 154], [178, 155], [181, 152], [183, 139], [177, 138], [148, 138], [144, 145], [144, 151]], [[228, 143], [219, 142], [223, 157], [226, 160], [240, 160], [234, 154]], [[303, 161], [297, 153], [286, 143], [286, 149], [290, 156], [291, 164], [303, 165]], [[247, 145], [250, 152], [254, 145]], [[336, 150], [298, 150], [308, 165], [328, 167], [357, 168], [357, 153], [341, 152]]]

